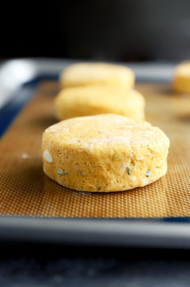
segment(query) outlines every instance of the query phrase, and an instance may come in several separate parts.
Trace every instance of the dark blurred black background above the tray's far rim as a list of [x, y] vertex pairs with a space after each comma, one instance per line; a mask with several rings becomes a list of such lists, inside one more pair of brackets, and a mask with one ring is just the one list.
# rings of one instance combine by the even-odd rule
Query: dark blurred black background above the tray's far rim
[[0, 59], [190, 59], [189, 0], [7, 2]]

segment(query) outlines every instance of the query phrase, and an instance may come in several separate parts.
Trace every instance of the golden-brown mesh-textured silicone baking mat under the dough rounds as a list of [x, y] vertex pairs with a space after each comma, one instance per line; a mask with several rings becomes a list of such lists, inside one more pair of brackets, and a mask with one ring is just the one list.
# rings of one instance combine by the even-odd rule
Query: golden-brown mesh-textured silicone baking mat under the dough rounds
[[20, 216], [147, 218], [190, 216], [190, 96], [175, 96], [167, 84], [138, 84], [146, 120], [170, 139], [168, 172], [131, 191], [77, 192], [43, 172], [41, 138], [56, 123], [56, 82], [42, 82], [0, 142], [0, 214]]

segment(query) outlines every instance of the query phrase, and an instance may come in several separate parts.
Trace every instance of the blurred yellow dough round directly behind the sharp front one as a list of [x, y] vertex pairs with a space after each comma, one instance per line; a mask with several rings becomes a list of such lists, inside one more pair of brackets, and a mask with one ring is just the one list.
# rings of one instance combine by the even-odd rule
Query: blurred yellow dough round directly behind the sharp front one
[[138, 91], [126, 91], [121, 87], [65, 88], [55, 98], [54, 106], [59, 120], [104, 113], [145, 118], [144, 97]]

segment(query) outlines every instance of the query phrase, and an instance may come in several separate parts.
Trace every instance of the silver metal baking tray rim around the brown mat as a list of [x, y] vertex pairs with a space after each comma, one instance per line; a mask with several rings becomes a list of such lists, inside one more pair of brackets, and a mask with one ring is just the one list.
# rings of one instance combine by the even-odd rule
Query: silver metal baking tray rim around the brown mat
[[[58, 79], [64, 67], [76, 60], [16, 59], [0, 66], [0, 133], [6, 130], [37, 83]], [[173, 63], [127, 63], [137, 82], [169, 83]], [[0, 239], [114, 245], [190, 248], [190, 218], [95, 219], [0, 216]]]

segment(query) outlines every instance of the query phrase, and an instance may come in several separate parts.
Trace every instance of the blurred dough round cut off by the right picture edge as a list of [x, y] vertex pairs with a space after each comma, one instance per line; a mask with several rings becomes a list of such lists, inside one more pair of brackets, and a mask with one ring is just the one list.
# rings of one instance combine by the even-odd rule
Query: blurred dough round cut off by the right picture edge
[[190, 93], [190, 62], [181, 63], [175, 68], [173, 89], [177, 93]]

